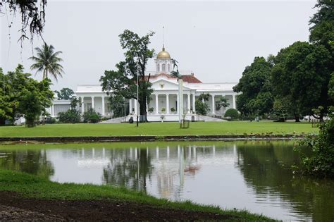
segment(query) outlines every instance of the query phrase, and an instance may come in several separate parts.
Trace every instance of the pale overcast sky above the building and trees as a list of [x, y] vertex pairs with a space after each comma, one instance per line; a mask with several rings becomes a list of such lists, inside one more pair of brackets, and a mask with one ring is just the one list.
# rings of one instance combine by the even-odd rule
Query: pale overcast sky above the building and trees
[[[119, 37], [125, 29], [151, 37], [156, 54], [164, 44], [179, 63], [202, 82], [238, 82], [255, 56], [276, 55], [296, 41], [308, 41], [309, 18], [316, 1], [57, 1], [48, 0], [43, 38], [61, 58], [65, 74], [52, 90], [99, 84], [104, 70], [124, 60]], [[5, 9], [3, 8], [3, 11]], [[8, 23], [13, 25], [8, 28]], [[33, 48], [42, 45], [35, 37], [23, 42], [20, 16], [0, 17], [0, 67], [6, 73], [18, 63], [32, 77]], [[10, 34], [10, 35], [8, 35]], [[155, 70], [154, 59], [147, 70]]]

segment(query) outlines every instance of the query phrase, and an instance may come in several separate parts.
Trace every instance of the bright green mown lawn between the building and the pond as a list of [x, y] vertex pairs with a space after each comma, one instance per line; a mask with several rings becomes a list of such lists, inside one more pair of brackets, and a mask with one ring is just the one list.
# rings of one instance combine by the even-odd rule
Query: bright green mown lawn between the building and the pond
[[110, 136], [110, 135], [243, 135], [243, 134], [314, 134], [318, 128], [310, 123], [274, 123], [261, 121], [197, 122], [189, 129], [180, 129], [178, 123], [135, 124], [53, 124], [24, 126], [2, 126], [0, 137], [60, 137], [60, 136]]

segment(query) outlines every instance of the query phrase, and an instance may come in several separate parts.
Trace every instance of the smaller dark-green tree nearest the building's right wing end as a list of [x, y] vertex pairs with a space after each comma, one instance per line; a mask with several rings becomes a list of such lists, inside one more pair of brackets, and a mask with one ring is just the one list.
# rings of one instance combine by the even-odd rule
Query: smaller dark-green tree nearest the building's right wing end
[[239, 83], [233, 87], [237, 96], [237, 110], [243, 116], [270, 113], [273, 107], [271, 93], [271, 68], [273, 56], [268, 59], [255, 57], [253, 63], [242, 73]]

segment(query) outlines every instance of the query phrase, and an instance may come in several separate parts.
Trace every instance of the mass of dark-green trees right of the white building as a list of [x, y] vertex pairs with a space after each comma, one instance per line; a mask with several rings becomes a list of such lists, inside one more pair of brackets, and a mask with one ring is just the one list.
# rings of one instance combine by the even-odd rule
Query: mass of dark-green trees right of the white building
[[310, 20], [308, 42], [295, 42], [276, 56], [255, 57], [233, 88], [240, 94], [237, 109], [243, 117], [277, 117], [280, 121], [314, 116], [320, 121], [329, 113], [334, 80], [334, 4], [318, 0]]

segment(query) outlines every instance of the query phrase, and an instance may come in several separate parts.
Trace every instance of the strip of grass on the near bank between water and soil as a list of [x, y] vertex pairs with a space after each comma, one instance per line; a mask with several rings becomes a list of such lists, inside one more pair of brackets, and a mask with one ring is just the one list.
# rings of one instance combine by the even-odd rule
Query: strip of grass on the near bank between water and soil
[[167, 199], [158, 199], [135, 192], [123, 187], [110, 185], [77, 185], [74, 183], [54, 183], [46, 178], [0, 169], [0, 191], [18, 192], [23, 197], [35, 197], [43, 199], [70, 199], [89, 200], [101, 199], [111, 202], [137, 202], [152, 204], [161, 208], [184, 209], [191, 211], [207, 211], [215, 214], [230, 214], [239, 216], [242, 221], [273, 221], [266, 216], [250, 214], [245, 210], [226, 210], [218, 206], [204, 206], [190, 201], [171, 202]]

